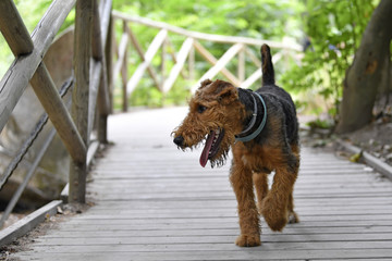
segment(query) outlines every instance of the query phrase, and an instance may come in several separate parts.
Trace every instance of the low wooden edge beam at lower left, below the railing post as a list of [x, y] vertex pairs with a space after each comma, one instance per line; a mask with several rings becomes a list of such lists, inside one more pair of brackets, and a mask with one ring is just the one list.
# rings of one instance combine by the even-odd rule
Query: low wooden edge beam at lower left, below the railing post
[[62, 204], [61, 200], [54, 200], [34, 211], [32, 214], [23, 217], [11, 226], [0, 231], [0, 246], [12, 243], [17, 237], [25, 235], [32, 231], [36, 225], [41, 223], [45, 219], [57, 213], [57, 208]]

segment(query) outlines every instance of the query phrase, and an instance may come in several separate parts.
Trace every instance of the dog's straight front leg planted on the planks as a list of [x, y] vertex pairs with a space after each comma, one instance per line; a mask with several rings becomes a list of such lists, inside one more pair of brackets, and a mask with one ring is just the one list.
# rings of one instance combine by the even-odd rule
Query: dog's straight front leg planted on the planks
[[260, 246], [260, 226], [255, 203], [252, 172], [241, 161], [237, 163], [233, 161], [230, 181], [238, 202], [241, 235], [235, 244], [240, 247]]

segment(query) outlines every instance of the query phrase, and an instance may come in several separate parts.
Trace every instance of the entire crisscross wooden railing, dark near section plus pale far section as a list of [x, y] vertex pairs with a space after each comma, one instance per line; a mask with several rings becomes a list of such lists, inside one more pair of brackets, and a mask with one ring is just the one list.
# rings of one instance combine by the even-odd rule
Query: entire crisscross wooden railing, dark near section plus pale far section
[[[85, 202], [87, 165], [91, 151], [94, 152], [93, 148], [97, 148], [97, 144], [90, 140], [90, 134], [93, 128], [97, 126], [98, 141], [100, 144], [108, 141], [107, 119], [112, 110], [112, 86], [120, 75], [123, 110], [126, 110], [128, 96], [138, 86], [146, 72], [155, 83], [156, 88], [162, 94], [170, 91], [180, 75], [191, 79], [192, 88], [189, 89], [192, 91], [195, 91], [203, 79], [213, 78], [219, 73], [233, 85], [247, 88], [261, 76], [258, 49], [262, 44], [268, 44], [274, 49], [274, 62], [287, 57], [295, 59], [296, 53], [301, 51], [298, 45], [285, 41], [275, 42], [246, 37], [203, 34], [147, 18], [132, 17], [111, 11], [111, 0], [54, 0], [29, 36], [13, 1], [0, 1], [0, 29], [15, 57], [14, 62], [0, 82], [0, 132], [9, 121], [28, 83], [47, 113], [47, 115], [42, 115], [32, 136], [24, 141], [17, 156], [1, 174], [0, 188], [12, 175], [34, 142], [42, 124], [50, 119], [54, 126], [37, 153], [25, 181], [9, 203], [7, 213], [16, 203], [56, 132], [72, 159], [69, 177], [69, 202]], [[59, 94], [42, 58], [74, 7], [76, 9], [74, 75], [70, 75], [70, 79], [63, 85], [64, 90], [62, 89], [60, 91], [62, 94]], [[117, 37], [113, 34], [115, 22], [122, 23], [123, 28], [121, 36], [118, 37], [119, 41], [115, 40]], [[143, 50], [131, 24], [158, 29], [146, 52]], [[171, 40], [173, 35], [181, 36], [184, 39], [177, 52], [175, 52]], [[225, 49], [225, 52], [220, 58], [216, 58], [203, 46], [203, 41], [222, 44], [222, 50]], [[135, 50], [133, 55], [137, 55], [142, 61], [139, 64], [127, 61], [130, 45]], [[151, 62], [159, 50], [161, 57], [160, 65], [157, 69]], [[204, 62], [211, 64], [211, 67], [206, 70], [204, 74], [198, 74], [195, 70], [196, 53]], [[235, 74], [226, 69], [233, 60], [236, 63], [237, 72]], [[186, 63], [187, 66], [185, 66]], [[249, 63], [253, 64], [253, 73], [246, 73], [249, 71]], [[128, 70], [128, 66], [132, 66], [132, 70]], [[171, 71], [166, 73], [168, 67], [171, 67]], [[133, 72], [131, 77], [128, 77], [128, 72]], [[195, 79], [195, 75], [201, 75], [201, 77]], [[73, 87], [71, 112], [68, 109], [69, 102], [64, 102], [61, 98], [70, 87]], [[96, 122], [98, 122], [97, 125], [95, 125]], [[7, 213], [2, 219], [4, 216], [7, 219]]]

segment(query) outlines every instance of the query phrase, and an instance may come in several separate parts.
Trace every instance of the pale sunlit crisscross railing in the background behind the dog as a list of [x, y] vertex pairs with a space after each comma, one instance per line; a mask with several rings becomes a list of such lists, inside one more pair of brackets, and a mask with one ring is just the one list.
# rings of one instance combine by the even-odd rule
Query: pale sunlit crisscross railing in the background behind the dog
[[[278, 62], [283, 57], [291, 57], [297, 60], [297, 53], [298, 51], [302, 51], [302, 47], [299, 45], [284, 40], [282, 42], [277, 42], [247, 37], [222, 36], [191, 32], [166, 23], [154, 22], [143, 17], [130, 16], [118, 11], [113, 11], [113, 24], [117, 21], [122, 22], [123, 33], [122, 36], [119, 37], [121, 38], [119, 42], [117, 42], [114, 38], [114, 47], [118, 59], [113, 66], [113, 80], [115, 82], [115, 79], [121, 75], [123, 110], [126, 110], [127, 108], [127, 96], [130, 96], [138, 86], [146, 70], [149, 77], [155, 83], [155, 87], [162, 94], [167, 94], [172, 88], [180, 75], [193, 82], [191, 88], [192, 91], [197, 89], [200, 82], [206, 78], [213, 78], [219, 73], [221, 73], [222, 76], [233, 85], [248, 88], [261, 77], [261, 62], [259, 60], [258, 50], [262, 44], [268, 44], [271, 48], [273, 48], [273, 51], [275, 52], [272, 58], [273, 62]], [[143, 51], [137, 36], [132, 30], [132, 24], [145, 25], [147, 27], [158, 29], [157, 35], [150, 42], [146, 52]], [[184, 39], [181, 48], [176, 53], [170, 39], [172, 35], [180, 35]], [[221, 58], [217, 59], [211, 54], [211, 52], [207, 50], [207, 48], [201, 45], [200, 41], [222, 44], [222, 49], [226, 48], [224, 46], [228, 46], [228, 44], [231, 45], [231, 47], [226, 49]], [[136, 53], [142, 61], [139, 64], [130, 64], [127, 62], [127, 47], [130, 45], [132, 45], [132, 47], [136, 50]], [[170, 48], [168, 48], [168, 46]], [[151, 64], [151, 61], [159, 50], [161, 51], [160, 67], [156, 69]], [[206, 62], [211, 64], [211, 67], [197, 80], [194, 79], [195, 51], [199, 53]], [[169, 60], [168, 57], [171, 59]], [[226, 65], [232, 62], [234, 58], [237, 58], [236, 75], [226, 69]], [[246, 60], [249, 60], [254, 66], [254, 71], [249, 75], [246, 75], [245, 73]], [[184, 65], [186, 61], [188, 62], [188, 70], [185, 73]], [[127, 66], [136, 66], [136, 70], [130, 78], [127, 76]], [[164, 73], [167, 67], [172, 67], [168, 74]], [[158, 72], [160, 72], [160, 74]]]

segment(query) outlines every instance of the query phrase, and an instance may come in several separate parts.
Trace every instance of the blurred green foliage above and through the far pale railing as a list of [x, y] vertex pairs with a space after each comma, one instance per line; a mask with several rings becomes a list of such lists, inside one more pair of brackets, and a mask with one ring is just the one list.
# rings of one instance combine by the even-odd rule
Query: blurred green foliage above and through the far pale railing
[[[298, 20], [298, 17], [301, 17], [299, 14], [303, 12], [304, 5], [298, 1], [299, 0], [258, 0], [253, 2], [242, 0], [117, 0], [113, 2], [113, 9], [128, 15], [164, 22], [188, 30], [280, 41], [284, 36], [291, 36], [293, 38], [299, 38], [302, 36], [301, 20]], [[147, 50], [158, 30], [137, 24], [132, 24], [131, 27], [137, 36], [143, 49]], [[118, 30], [119, 42], [121, 36], [119, 33], [122, 29], [122, 24], [118, 23], [115, 28]], [[177, 52], [185, 38], [174, 34], [169, 34], [169, 37], [173, 47], [168, 46], [168, 50]], [[221, 57], [230, 48], [230, 45], [209, 41], [203, 41], [201, 44], [216, 58]], [[256, 57], [259, 57], [258, 48], [255, 47], [254, 53]], [[167, 61], [171, 59], [168, 58]], [[128, 69], [128, 75], [132, 75], [140, 62], [139, 58], [135, 53], [132, 53], [132, 50], [128, 53], [128, 62], [135, 64], [135, 66], [130, 66]], [[159, 70], [160, 63], [160, 53], [157, 53], [152, 60], [152, 64], [157, 71]], [[170, 62], [167, 62], [166, 74], [170, 72], [172, 65], [173, 64], [170, 64]], [[195, 66], [195, 79], [197, 79], [207, 72], [211, 65], [196, 52]], [[236, 59], [233, 59], [226, 66], [233, 74], [236, 73]], [[246, 60], [245, 70], [247, 76], [256, 70], [249, 59]], [[147, 73], [145, 73], [145, 76], [147, 78]], [[218, 77], [224, 79], [221, 74]], [[156, 94], [156, 90], [148, 94], [155, 83], [144, 79], [132, 94], [130, 104], [151, 107], [173, 103], [183, 104], [189, 96], [189, 89], [193, 84], [193, 80], [187, 80], [180, 76], [169, 94], [167, 94], [166, 97], [159, 97], [158, 92]], [[254, 88], [256, 88], [256, 86], [259, 86], [259, 84], [256, 84]]]

